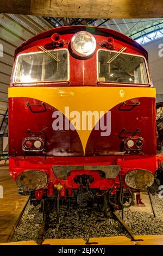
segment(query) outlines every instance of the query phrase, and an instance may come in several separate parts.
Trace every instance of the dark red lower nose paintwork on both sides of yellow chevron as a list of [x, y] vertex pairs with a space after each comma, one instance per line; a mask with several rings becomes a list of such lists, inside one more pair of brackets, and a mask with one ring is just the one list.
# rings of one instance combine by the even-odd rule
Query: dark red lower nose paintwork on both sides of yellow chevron
[[[44, 103], [46, 112], [31, 112], [27, 106], [27, 102], [30, 104], [40, 103], [38, 100], [26, 97], [9, 98], [9, 108], [12, 108], [10, 122], [14, 124], [14, 120], [17, 119], [17, 123], [22, 124], [18, 136], [16, 129], [9, 129], [10, 138], [16, 138], [16, 140], [10, 139], [9, 141], [10, 156], [83, 156], [83, 147], [77, 131], [53, 130], [52, 123], [54, 118], [52, 118], [52, 114], [57, 110], [56, 108]], [[95, 129], [93, 129], [86, 145], [86, 156], [114, 155], [117, 154], [117, 152], [124, 154], [124, 149], [122, 148], [123, 137], [132, 135], [132, 133], [130, 134], [126, 132], [123, 132], [120, 135], [124, 128], [128, 131], [135, 131], [136, 129], [141, 130], [140, 133], [136, 133], [135, 135], [143, 137], [144, 139], [144, 146], [139, 153], [140, 155], [156, 154], [156, 141], [155, 139], [149, 139], [155, 138], [156, 134], [155, 119], [153, 118], [155, 115], [155, 99], [150, 97], [140, 97], [126, 101], [128, 104], [135, 104], [136, 102], [140, 102], [140, 105], [134, 108], [128, 106], [121, 107], [120, 103], [110, 109], [111, 135], [108, 137], [101, 137], [101, 130], [99, 129], [99, 131], [95, 131]], [[146, 107], [147, 105], [148, 108]], [[32, 111], [42, 111], [45, 107], [32, 107]], [[23, 111], [19, 112], [17, 115], [17, 109], [23, 109]], [[128, 120], [130, 120], [130, 122], [128, 122]], [[27, 133], [28, 130], [31, 132], [45, 130], [45, 134], [37, 135], [46, 141], [45, 150], [38, 153], [24, 152], [22, 150], [22, 142], [24, 138], [30, 137]]]

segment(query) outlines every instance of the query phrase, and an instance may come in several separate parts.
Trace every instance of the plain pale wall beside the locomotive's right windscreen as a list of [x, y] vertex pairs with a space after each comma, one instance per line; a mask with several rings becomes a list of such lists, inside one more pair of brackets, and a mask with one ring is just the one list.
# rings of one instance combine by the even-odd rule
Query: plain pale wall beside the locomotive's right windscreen
[[[149, 68], [151, 70], [154, 87], [156, 88], [157, 98], [163, 101], [163, 56], [159, 56], [159, 51], [161, 50], [159, 48], [160, 44], [163, 44], [163, 39], [154, 40], [143, 45], [143, 47], [148, 52]], [[163, 53], [163, 51], [161, 51], [161, 53]]]

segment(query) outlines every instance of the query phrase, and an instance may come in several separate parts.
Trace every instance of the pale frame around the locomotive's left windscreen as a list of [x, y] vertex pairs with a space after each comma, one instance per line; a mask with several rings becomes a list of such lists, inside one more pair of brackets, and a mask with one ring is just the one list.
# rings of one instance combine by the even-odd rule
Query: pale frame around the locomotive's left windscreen
[[41, 54], [41, 53], [44, 53], [43, 51], [36, 51], [36, 52], [26, 52], [26, 53], [21, 53], [21, 54], [18, 54], [18, 56], [16, 57], [16, 60], [15, 60], [15, 66], [14, 66], [14, 74], [13, 74], [13, 84], [15, 86], [21, 86], [23, 84], [23, 86], [35, 86], [37, 84], [56, 84], [56, 83], [66, 83], [66, 82], [69, 82], [70, 81], [70, 53], [68, 51], [67, 48], [59, 48], [59, 49], [53, 49], [53, 50], [48, 50], [48, 52], [55, 52], [55, 51], [63, 51], [63, 50], [66, 50], [67, 51], [67, 80], [64, 80], [64, 81], [38, 81], [38, 82], [16, 82], [15, 81], [15, 77], [16, 77], [16, 71], [17, 71], [17, 67], [18, 67], [18, 59], [20, 58], [20, 56], [24, 56], [24, 55], [29, 55], [29, 54]]

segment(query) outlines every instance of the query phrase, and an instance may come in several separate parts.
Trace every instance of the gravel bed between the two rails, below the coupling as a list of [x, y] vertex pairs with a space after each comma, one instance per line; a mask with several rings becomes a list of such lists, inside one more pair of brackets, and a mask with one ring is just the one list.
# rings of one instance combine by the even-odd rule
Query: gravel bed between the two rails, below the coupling
[[[64, 216], [64, 212], [65, 210], [61, 211], [60, 229], [56, 231], [53, 225], [46, 231], [46, 239], [83, 238], [87, 241], [90, 237], [118, 236], [127, 233], [120, 222], [113, 218], [105, 218], [101, 211], [71, 207], [67, 216]], [[55, 223], [55, 214], [51, 214], [50, 219]]]

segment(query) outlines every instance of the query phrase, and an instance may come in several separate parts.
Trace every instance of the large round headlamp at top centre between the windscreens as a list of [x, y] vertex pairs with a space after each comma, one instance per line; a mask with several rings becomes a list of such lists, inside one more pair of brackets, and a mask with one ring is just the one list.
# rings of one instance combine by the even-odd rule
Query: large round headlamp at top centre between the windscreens
[[86, 31], [80, 31], [72, 36], [72, 51], [80, 57], [90, 56], [96, 49], [94, 36]]

